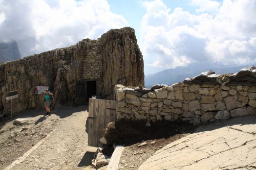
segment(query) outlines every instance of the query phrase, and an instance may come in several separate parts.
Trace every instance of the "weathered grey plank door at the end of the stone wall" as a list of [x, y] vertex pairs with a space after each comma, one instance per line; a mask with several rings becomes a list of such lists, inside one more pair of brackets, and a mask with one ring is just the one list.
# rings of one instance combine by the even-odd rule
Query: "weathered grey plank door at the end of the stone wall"
[[98, 147], [110, 122], [116, 121], [116, 101], [89, 99], [88, 145]]

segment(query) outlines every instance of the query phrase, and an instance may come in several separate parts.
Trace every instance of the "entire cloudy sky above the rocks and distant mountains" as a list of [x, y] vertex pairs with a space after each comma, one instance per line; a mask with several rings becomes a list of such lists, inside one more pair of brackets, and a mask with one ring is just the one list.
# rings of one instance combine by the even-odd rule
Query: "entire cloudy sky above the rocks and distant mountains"
[[132, 27], [145, 75], [256, 62], [256, 0], [0, 0], [0, 42], [22, 57]]

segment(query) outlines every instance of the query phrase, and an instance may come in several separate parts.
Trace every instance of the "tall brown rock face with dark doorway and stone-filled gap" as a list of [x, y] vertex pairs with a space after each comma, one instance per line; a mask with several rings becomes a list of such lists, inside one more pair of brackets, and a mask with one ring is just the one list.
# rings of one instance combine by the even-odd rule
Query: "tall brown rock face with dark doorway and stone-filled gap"
[[116, 84], [144, 86], [143, 58], [132, 28], [0, 64], [0, 114], [10, 108], [5, 100], [8, 91], [18, 90], [19, 98], [13, 100], [13, 112], [18, 112], [42, 107], [35, 86], [49, 86], [56, 105], [85, 101], [89, 86], [103, 99], [114, 100]]

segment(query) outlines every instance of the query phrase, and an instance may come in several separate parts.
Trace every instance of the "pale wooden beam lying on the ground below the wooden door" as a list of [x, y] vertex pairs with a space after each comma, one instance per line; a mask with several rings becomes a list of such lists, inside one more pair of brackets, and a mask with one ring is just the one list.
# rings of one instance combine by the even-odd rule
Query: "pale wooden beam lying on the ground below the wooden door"
[[120, 145], [115, 148], [115, 151], [111, 156], [109, 165], [106, 168], [106, 170], [118, 170], [118, 165], [119, 165], [119, 161], [120, 161], [123, 150], [124, 150], [124, 147]]

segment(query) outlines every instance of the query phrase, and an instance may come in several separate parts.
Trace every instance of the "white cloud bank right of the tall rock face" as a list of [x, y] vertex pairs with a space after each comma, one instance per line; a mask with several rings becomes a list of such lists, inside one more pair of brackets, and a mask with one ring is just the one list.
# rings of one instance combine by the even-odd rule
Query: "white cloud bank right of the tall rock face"
[[[256, 62], [256, 0], [192, 2], [206, 13], [171, 11], [160, 0], [144, 3], [140, 47], [145, 65], [155, 67], [145, 67], [145, 72], [194, 62]], [[204, 8], [203, 2], [214, 4], [215, 10]]]

